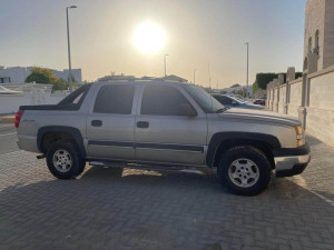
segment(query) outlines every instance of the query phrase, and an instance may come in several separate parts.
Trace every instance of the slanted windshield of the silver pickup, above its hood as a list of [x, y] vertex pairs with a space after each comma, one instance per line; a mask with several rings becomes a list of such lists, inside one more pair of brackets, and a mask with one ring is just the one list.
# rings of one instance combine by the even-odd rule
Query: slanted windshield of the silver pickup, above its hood
[[185, 90], [194, 98], [204, 112], [215, 113], [225, 110], [225, 107], [220, 102], [198, 86], [187, 84], [185, 86]]

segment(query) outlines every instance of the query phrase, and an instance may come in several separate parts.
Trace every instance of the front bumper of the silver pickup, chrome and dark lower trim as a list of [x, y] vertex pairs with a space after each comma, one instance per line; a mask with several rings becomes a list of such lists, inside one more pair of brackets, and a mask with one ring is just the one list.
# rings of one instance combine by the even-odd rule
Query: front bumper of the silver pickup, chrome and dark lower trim
[[276, 177], [292, 177], [302, 173], [311, 160], [307, 144], [295, 149], [274, 151]]

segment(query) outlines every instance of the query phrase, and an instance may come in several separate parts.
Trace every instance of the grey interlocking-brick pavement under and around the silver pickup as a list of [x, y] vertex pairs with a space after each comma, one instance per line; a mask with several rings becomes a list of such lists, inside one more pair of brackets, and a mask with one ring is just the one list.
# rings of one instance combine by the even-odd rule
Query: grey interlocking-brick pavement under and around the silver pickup
[[333, 249], [334, 149], [308, 142], [302, 176], [250, 198], [227, 193], [213, 174], [116, 178], [87, 166], [61, 181], [36, 154], [1, 148], [0, 249]]

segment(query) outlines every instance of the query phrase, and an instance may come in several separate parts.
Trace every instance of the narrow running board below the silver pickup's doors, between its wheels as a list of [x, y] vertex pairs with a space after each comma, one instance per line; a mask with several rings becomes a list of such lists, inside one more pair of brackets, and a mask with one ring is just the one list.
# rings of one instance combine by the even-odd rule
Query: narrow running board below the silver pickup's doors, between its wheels
[[102, 162], [102, 161], [90, 161], [92, 167], [112, 167], [112, 168], [128, 168], [128, 169], [140, 169], [147, 171], [166, 171], [166, 172], [185, 172], [185, 173], [198, 173], [203, 174], [203, 171], [194, 168], [175, 167], [175, 166], [150, 166], [150, 164], [135, 164], [135, 163], [116, 163], [116, 162]]

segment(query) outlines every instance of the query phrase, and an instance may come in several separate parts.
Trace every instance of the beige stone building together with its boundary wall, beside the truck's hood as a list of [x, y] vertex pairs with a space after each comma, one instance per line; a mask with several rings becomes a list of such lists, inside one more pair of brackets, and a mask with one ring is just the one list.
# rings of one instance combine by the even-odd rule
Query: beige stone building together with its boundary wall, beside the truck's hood
[[304, 31], [303, 77], [295, 79], [292, 67], [286, 82], [272, 81], [266, 107], [298, 118], [307, 133], [334, 147], [334, 0], [307, 1]]

